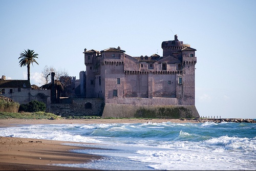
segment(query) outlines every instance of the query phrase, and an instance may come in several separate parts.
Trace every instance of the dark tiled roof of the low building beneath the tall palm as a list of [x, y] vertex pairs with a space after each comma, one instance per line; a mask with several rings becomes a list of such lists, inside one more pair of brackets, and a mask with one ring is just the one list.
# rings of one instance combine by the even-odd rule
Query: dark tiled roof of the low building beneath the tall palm
[[31, 84], [29, 80], [1, 79], [0, 88], [31, 88]]

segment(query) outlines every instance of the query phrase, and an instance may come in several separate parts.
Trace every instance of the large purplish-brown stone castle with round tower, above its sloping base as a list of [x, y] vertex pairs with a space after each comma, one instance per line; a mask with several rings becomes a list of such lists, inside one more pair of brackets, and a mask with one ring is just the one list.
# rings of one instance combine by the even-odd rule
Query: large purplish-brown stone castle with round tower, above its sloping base
[[135, 115], [134, 111], [123, 115], [107, 107], [119, 104], [138, 110], [180, 106], [190, 110], [192, 117], [199, 117], [195, 107], [196, 49], [183, 44], [177, 35], [163, 41], [162, 49], [163, 56], [139, 57], [125, 54], [120, 47], [100, 52], [84, 49], [86, 97], [103, 99], [102, 117]]

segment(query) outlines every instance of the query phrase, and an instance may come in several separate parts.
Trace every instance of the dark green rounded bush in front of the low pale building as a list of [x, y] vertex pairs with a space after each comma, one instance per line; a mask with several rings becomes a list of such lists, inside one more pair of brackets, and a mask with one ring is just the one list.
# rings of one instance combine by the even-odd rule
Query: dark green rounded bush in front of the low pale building
[[45, 112], [46, 110], [46, 104], [41, 101], [37, 100], [32, 100], [28, 104], [21, 104], [19, 106], [19, 112], [24, 111], [24, 112]]

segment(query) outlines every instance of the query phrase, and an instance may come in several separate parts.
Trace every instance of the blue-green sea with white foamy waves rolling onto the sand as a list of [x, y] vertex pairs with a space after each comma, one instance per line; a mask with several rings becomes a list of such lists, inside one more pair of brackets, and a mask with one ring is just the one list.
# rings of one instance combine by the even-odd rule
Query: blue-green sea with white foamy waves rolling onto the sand
[[[0, 127], [0, 136], [66, 141], [96, 147], [80, 164], [100, 170], [256, 170], [256, 123], [31, 124]], [[80, 142], [80, 143], [72, 143]]]

